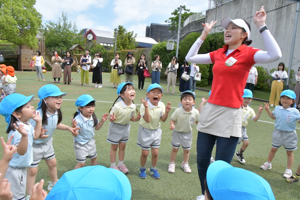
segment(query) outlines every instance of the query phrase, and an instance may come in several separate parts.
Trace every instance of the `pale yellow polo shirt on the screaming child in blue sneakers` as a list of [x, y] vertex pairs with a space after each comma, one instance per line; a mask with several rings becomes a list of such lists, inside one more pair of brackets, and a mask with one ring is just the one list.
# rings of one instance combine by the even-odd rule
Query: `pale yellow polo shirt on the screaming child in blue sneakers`
[[161, 127], [161, 116], [163, 116], [166, 112], [166, 106], [163, 102], [159, 101], [157, 106], [154, 106], [150, 101], [148, 101], [148, 109], [150, 113], [150, 122], [147, 123], [143, 116], [145, 115], [145, 106], [141, 105], [140, 108], [140, 125], [149, 130], [155, 130]]

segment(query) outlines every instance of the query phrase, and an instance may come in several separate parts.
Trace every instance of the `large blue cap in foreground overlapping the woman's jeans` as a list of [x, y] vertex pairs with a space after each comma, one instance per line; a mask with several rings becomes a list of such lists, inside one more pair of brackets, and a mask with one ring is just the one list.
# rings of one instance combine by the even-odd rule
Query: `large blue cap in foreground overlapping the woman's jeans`
[[265, 179], [248, 170], [232, 167], [223, 160], [209, 165], [206, 181], [214, 200], [275, 200], [270, 184]]

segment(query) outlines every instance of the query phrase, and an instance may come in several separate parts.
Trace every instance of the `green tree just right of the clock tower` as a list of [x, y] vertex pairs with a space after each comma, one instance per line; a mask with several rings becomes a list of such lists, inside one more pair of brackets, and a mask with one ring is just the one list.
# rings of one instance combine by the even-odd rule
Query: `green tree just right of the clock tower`
[[121, 25], [119, 25], [118, 28], [115, 28], [114, 30], [114, 42], [116, 37], [115, 34], [117, 31], [117, 50], [135, 49], [137, 47], [137, 44], [135, 43], [137, 34], [134, 34], [133, 31], [127, 32], [126, 29]]

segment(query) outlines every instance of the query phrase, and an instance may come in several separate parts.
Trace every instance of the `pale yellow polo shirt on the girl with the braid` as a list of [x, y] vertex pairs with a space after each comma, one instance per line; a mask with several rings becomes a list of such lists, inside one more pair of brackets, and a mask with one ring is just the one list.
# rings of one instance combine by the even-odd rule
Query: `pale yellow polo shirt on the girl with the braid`
[[132, 117], [135, 116], [136, 106], [131, 102], [130, 106], [127, 106], [123, 100], [115, 103], [113, 108], [110, 111], [110, 115], [115, 113], [116, 120], [114, 123], [118, 124], [128, 124]]

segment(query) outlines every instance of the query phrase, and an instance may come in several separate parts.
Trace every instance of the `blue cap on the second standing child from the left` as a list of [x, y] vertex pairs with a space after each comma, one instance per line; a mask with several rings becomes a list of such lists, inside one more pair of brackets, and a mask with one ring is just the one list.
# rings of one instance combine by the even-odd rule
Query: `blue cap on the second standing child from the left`
[[38, 103], [38, 108], [40, 109], [42, 106], [42, 101], [46, 97], [58, 97], [58, 96], [66, 96], [67, 93], [61, 92], [60, 89], [53, 84], [44, 85], [38, 91], [38, 97], [40, 98], [40, 102]]

